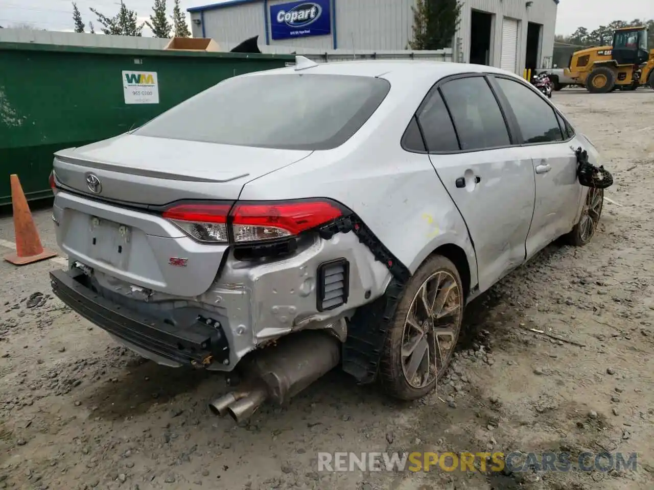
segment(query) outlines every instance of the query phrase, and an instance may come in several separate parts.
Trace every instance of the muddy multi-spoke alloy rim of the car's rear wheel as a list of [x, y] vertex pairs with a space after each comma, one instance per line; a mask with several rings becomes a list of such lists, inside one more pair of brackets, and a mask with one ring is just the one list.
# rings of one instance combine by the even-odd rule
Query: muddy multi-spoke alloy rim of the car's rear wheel
[[402, 371], [420, 389], [438, 379], [454, 351], [461, 327], [463, 295], [454, 276], [439, 270], [411, 301], [402, 331]]

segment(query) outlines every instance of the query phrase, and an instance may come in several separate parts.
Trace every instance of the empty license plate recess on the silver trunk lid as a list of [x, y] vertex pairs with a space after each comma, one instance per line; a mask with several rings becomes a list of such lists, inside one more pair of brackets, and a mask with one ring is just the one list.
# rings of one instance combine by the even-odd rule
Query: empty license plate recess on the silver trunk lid
[[88, 255], [125, 270], [131, 249], [131, 229], [114, 221], [91, 216]]

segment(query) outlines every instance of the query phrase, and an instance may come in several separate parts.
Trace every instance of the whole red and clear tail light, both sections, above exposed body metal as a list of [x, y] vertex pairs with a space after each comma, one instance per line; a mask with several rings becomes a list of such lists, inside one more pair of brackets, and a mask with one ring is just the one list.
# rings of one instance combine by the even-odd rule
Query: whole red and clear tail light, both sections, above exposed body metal
[[[230, 212], [231, 209], [231, 212]], [[198, 242], [235, 244], [292, 238], [343, 216], [344, 208], [326, 199], [275, 203], [179, 204], [163, 218]]]

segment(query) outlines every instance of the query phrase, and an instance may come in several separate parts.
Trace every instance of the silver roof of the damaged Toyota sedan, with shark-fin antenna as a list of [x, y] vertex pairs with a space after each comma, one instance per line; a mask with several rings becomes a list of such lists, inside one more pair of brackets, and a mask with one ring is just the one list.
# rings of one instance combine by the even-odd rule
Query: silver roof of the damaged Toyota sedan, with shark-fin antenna
[[387, 79], [392, 78], [393, 81], [403, 81], [403, 79], [415, 81], [417, 78], [436, 81], [445, 76], [460, 73], [498, 73], [517, 77], [515, 73], [487, 65], [413, 59], [330, 61], [329, 63], [317, 63], [315, 66], [301, 70], [296, 70], [294, 66], [291, 66], [256, 72], [249, 75], [299, 73], [375, 76]]

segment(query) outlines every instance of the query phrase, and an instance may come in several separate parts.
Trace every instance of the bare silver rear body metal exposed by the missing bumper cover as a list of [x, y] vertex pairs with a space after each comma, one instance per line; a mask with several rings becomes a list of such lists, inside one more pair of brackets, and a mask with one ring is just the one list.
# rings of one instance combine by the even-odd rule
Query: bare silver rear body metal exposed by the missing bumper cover
[[[284, 258], [238, 261], [229, 253], [215, 282], [196, 297], [145, 289], [103, 270], [91, 272], [90, 285], [95, 294], [116, 306], [182, 331], [196, 323], [199, 316], [213, 319], [230, 346], [229, 358], [228, 362], [212, 359], [204, 367], [229, 371], [250, 351], [303, 329], [324, 329], [344, 341], [345, 318], [362, 304], [383, 295], [391, 279], [388, 268], [375, 261], [354, 233], [337, 233], [328, 240], [316, 234], [307, 236], [294, 255]], [[318, 267], [333, 259], [349, 262], [349, 295], [338, 308], [318, 312]], [[75, 266], [80, 262], [83, 263], [70, 259], [73, 269], [78, 269]], [[99, 326], [103, 327], [101, 323]], [[162, 359], [165, 355], [135, 346], [120, 332], [108, 331], [139, 355], [164, 365], [183, 365], [179, 360]]]

